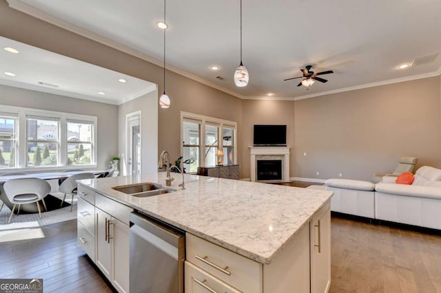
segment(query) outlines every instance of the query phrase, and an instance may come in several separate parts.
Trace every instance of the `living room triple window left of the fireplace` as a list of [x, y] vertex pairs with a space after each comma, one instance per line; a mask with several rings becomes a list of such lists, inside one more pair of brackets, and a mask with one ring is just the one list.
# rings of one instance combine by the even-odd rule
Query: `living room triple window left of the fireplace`
[[187, 173], [198, 166], [216, 166], [218, 149], [223, 150], [223, 164], [236, 164], [236, 122], [181, 112], [183, 161]]

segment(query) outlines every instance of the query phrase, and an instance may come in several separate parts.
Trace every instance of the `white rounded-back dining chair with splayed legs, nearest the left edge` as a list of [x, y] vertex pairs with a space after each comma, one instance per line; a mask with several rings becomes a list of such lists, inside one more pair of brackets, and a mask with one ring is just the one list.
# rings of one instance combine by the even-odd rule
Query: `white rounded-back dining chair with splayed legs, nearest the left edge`
[[[9, 216], [8, 224], [12, 219], [15, 206], [19, 205], [17, 215], [20, 213], [21, 204], [31, 204], [37, 202], [37, 209], [41, 219], [41, 210], [39, 200], [43, 199], [50, 193], [50, 184], [39, 178], [19, 178], [8, 180], [3, 184], [3, 190], [6, 193], [9, 201], [14, 204], [12, 206], [11, 215]], [[44, 204], [44, 202], [43, 202]], [[44, 204], [45, 206], [45, 204]], [[46, 206], [45, 206], [46, 208]]]

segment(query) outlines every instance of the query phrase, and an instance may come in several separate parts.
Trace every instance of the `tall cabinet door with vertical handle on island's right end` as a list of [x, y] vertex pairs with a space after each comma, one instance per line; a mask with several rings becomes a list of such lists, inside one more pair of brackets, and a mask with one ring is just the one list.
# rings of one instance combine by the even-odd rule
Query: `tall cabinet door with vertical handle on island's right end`
[[328, 292], [331, 285], [331, 208], [327, 204], [311, 226], [311, 292]]

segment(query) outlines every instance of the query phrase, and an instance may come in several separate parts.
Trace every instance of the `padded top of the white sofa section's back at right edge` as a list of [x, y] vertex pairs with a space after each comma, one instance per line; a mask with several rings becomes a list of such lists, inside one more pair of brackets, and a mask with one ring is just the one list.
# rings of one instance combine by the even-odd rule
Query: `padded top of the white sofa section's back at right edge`
[[391, 195], [441, 199], [441, 187], [436, 186], [378, 183], [375, 186], [375, 191], [378, 193], [388, 193]]

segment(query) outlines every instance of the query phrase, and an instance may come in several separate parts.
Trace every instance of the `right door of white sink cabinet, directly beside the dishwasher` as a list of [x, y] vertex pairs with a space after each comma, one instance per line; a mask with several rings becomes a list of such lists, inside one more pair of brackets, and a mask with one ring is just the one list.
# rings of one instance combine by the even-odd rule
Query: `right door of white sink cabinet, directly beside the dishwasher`
[[129, 292], [129, 226], [112, 217], [112, 285], [119, 292]]

